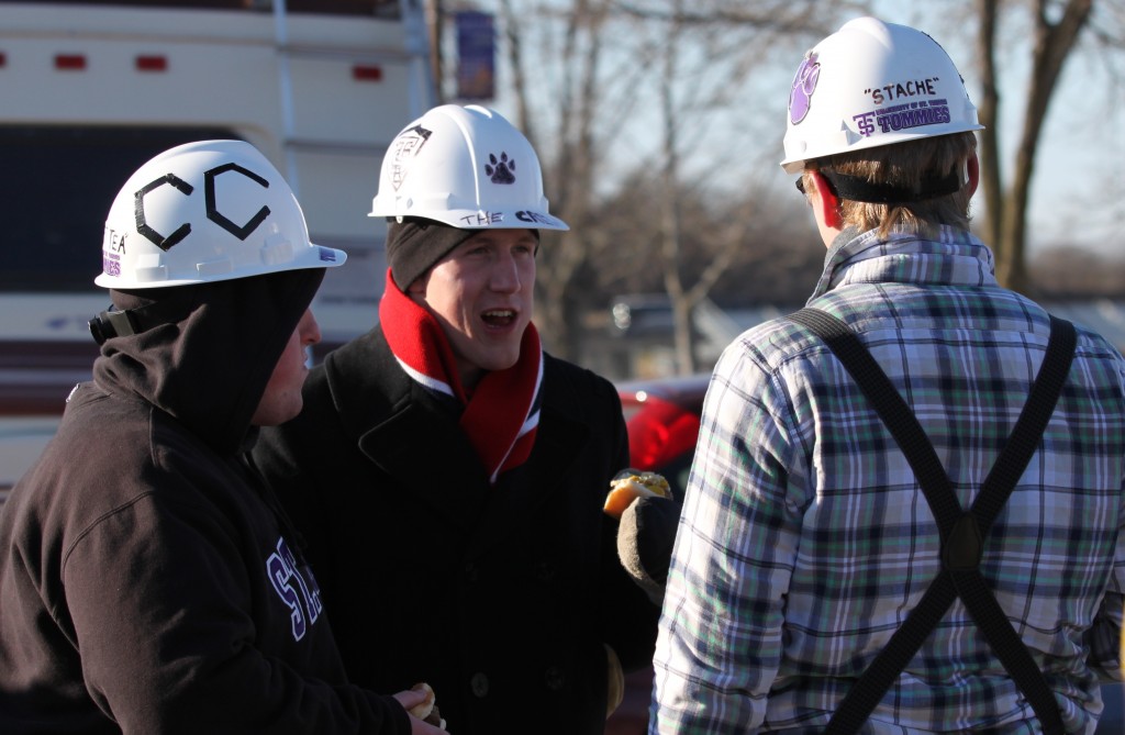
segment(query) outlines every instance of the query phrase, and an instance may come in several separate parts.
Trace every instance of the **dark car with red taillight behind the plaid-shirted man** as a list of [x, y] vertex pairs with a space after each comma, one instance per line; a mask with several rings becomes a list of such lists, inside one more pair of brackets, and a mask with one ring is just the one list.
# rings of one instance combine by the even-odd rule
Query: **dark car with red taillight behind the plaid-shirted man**
[[[672, 492], [682, 498], [687, 486], [692, 456], [700, 431], [700, 414], [710, 375], [631, 380], [618, 385], [621, 406], [629, 427], [631, 465], [664, 475]], [[647, 732], [652, 672], [626, 678], [626, 699], [606, 721], [606, 735], [637, 735]], [[1101, 688], [1105, 711], [1095, 735], [1125, 733], [1125, 685]]]

